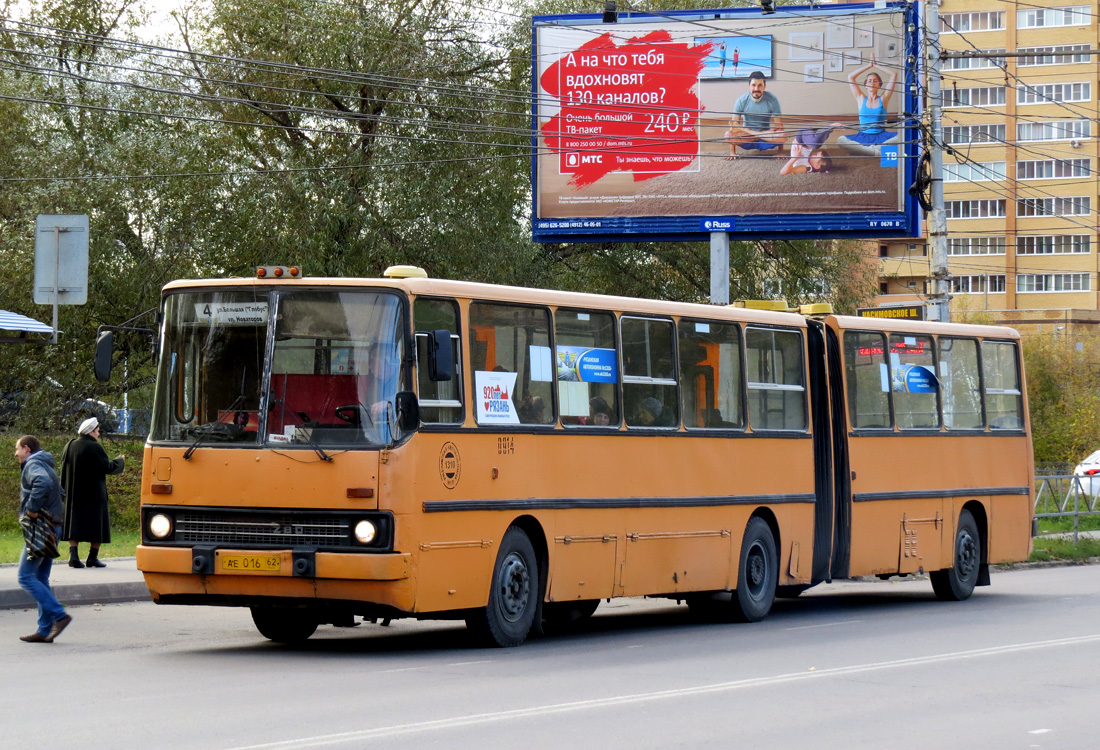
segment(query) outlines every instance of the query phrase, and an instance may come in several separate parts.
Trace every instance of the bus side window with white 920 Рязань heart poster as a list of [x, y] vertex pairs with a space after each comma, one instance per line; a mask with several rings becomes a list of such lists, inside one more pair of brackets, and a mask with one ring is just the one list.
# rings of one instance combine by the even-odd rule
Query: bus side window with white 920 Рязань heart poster
[[[470, 328], [484, 342], [482, 375], [507, 398], [504, 409], [483, 409], [476, 400], [480, 424], [553, 424], [553, 360], [550, 353], [550, 313], [544, 308], [490, 302], [470, 306]], [[477, 344], [474, 344], [474, 353]], [[496, 373], [496, 375], [492, 375]], [[492, 375], [492, 377], [491, 377]]]

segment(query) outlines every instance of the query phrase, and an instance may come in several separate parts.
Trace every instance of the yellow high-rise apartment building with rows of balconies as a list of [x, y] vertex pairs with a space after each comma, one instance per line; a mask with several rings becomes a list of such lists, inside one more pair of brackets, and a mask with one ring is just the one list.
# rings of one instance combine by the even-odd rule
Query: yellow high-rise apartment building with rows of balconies
[[[953, 316], [1097, 334], [1100, 3], [944, 0], [944, 197]], [[997, 57], [998, 52], [1037, 53]], [[879, 243], [878, 305], [930, 290], [924, 241]]]

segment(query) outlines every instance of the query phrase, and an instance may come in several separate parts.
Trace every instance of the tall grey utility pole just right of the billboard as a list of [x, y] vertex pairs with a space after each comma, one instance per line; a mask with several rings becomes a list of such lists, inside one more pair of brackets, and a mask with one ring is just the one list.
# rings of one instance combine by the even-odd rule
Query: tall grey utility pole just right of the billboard
[[928, 244], [932, 246], [932, 313], [933, 320], [949, 322], [950, 309], [950, 271], [947, 268], [947, 214], [944, 210], [944, 122], [941, 117], [942, 88], [939, 66], [939, 8], [938, 3], [927, 3], [928, 49], [928, 113], [932, 120], [932, 137], [928, 148], [932, 152], [932, 210], [928, 212]]

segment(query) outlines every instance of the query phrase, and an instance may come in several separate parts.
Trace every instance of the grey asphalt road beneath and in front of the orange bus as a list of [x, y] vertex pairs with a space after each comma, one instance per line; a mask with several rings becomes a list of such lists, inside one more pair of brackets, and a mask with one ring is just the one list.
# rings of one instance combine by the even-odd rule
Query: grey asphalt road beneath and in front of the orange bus
[[0, 746], [1093, 748], [1100, 566], [1013, 571], [969, 600], [844, 583], [757, 625], [660, 600], [581, 632], [469, 646], [460, 624], [263, 640], [245, 610], [81, 606], [54, 644], [0, 611]]

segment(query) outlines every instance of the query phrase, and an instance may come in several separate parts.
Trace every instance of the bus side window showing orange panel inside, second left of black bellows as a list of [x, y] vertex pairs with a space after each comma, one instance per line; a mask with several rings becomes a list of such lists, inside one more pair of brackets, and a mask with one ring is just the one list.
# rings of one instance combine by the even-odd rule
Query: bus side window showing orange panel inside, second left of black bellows
[[745, 427], [740, 328], [681, 320], [679, 332], [684, 427]]

